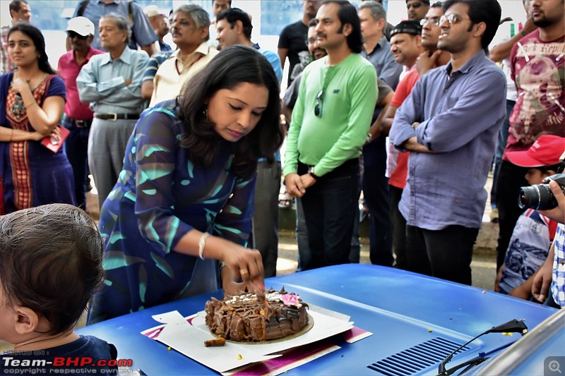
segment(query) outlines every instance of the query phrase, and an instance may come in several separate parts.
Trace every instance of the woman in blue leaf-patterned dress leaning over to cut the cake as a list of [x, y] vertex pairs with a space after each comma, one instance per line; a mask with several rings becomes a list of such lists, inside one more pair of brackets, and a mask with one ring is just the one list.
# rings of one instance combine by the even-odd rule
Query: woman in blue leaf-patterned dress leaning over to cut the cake
[[267, 59], [234, 46], [143, 111], [100, 212], [106, 280], [89, 323], [217, 289], [218, 269], [227, 294], [262, 284], [245, 245], [257, 160], [283, 142], [279, 102]]

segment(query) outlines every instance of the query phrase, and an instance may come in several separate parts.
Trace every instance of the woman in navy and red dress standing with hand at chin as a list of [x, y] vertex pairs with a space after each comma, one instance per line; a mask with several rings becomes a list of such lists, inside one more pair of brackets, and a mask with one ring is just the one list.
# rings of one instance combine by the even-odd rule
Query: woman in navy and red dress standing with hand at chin
[[61, 118], [65, 84], [45, 53], [40, 30], [18, 23], [8, 31], [16, 71], [0, 75], [0, 214], [50, 203], [76, 205], [73, 170], [61, 147], [41, 145]]

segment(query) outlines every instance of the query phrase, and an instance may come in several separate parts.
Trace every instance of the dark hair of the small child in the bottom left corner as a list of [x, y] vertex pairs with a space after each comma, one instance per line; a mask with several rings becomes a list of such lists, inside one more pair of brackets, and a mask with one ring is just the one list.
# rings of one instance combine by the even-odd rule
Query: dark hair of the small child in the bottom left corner
[[72, 205], [50, 204], [0, 217], [0, 284], [6, 304], [30, 308], [50, 325], [71, 329], [102, 286], [102, 239]]

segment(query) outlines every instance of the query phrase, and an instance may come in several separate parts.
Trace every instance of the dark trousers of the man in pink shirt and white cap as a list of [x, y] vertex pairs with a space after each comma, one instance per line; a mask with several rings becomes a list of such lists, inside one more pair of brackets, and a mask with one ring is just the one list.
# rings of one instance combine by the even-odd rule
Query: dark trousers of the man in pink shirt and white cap
[[88, 171], [88, 128], [78, 128], [74, 123], [65, 118], [62, 125], [69, 129], [71, 133], [66, 138], [64, 147], [66, 157], [73, 168], [73, 179], [75, 183], [76, 205], [81, 209], [86, 209], [86, 176]]

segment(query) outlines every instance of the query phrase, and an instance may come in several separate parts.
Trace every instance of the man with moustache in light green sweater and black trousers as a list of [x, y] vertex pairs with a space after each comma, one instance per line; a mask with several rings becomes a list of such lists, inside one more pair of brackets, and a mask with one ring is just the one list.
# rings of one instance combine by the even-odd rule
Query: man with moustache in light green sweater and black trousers
[[283, 174], [302, 198], [311, 250], [302, 270], [349, 262], [359, 190], [359, 154], [375, 107], [376, 73], [349, 1], [326, 0], [316, 39], [328, 56], [304, 69], [287, 136]]

